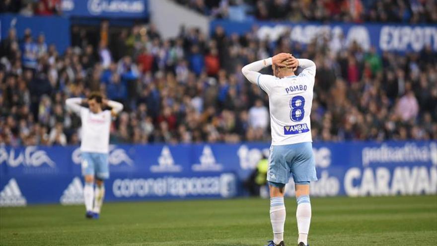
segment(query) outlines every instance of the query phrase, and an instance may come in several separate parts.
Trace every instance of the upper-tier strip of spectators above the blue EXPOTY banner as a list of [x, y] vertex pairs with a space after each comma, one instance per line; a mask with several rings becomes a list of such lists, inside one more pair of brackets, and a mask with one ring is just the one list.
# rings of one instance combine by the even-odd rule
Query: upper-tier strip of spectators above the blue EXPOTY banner
[[[199, 13], [259, 20], [436, 23], [435, 0], [175, 0]], [[231, 11], [232, 10], [232, 11]], [[246, 18], [247, 18], [246, 16]]]

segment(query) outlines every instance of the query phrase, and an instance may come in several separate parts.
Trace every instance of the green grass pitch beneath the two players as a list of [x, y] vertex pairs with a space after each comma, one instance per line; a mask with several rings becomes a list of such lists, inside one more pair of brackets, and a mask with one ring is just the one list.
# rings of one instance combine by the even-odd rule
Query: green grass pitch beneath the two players
[[[437, 196], [312, 198], [311, 246], [436, 246]], [[296, 202], [286, 199], [285, 242], [295, 246]], [[1, 246], [264, 246], [268, 199], [106, 203], [0, 209]]]

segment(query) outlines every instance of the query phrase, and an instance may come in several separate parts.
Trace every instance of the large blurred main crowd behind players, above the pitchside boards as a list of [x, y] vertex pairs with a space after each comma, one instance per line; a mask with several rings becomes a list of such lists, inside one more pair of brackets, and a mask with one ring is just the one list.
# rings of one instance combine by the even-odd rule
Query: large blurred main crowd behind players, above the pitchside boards
[[[164, 40], [137, 24], [117, 38], [104, 21], [93, 46], [72, 28], [63, 54], [26, 30], [0, 44], [0, 142], [67, 145], [80, 141], [80, 119], [65, 99], [100, 90], [122, 102], [112, 143], [268, 141], [268, 97], [241, 74], [243, 65], [278, 52], [317, 65], [311, 113], [314, 141], [437, 139], [437, 55], [378, 55], [339, 36], [307, 45], [285, 34], [275, 42], [251, 33], [211, 37], [181, 28]], [[113, 48], [108, 48], [113, 47]], [[347, 47], [347, 48], [345, 48]], [[265, 69], [264, 73], [271, 73]]]

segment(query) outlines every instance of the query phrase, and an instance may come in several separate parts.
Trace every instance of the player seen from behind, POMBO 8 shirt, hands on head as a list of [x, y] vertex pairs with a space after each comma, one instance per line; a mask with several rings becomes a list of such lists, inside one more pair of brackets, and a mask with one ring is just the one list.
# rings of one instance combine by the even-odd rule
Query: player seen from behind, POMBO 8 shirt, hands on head
[[[272, 66], [274, 76], [258, 73]], [[300, 72], [298, 76], [294, 72]], [[270, 186], [270, 221], [273, 241], [268, 246], [284, 246], [286, 209], [284, 188], [292, 175], [297, 200], [298, 246], [307, 246], [311, 204], [309, 183], [317, 180], [312, 152], [309, 114], [313, 97], [315, 64], [281, 53], [243, 67], [241, 72], [269, 95], [272, 146], [267, 180]]]

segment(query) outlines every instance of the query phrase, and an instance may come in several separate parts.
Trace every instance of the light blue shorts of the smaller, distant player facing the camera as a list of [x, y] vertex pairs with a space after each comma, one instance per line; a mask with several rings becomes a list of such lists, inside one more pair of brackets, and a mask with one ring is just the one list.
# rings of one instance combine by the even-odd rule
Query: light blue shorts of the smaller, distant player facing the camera
[[82, 175], [95, 175], [98, 179], [109, 178], [108, 154], [82, 152]]

